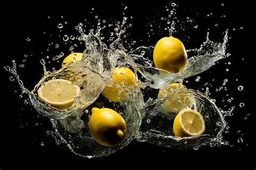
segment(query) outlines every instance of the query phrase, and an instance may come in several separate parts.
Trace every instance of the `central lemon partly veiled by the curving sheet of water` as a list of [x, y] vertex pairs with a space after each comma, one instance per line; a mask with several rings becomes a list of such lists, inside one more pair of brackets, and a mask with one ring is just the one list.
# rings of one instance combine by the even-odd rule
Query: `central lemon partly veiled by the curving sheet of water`
[[[135, 74], [127, 67], [116, 67], [112, 74], [112, 80], [122, 87], [136, 86], [137, 84]], [[126, 98], [127, 92], [113, 82], [105, 86], [102, 91], [103, 96], [111, 101], [123, 101]]]

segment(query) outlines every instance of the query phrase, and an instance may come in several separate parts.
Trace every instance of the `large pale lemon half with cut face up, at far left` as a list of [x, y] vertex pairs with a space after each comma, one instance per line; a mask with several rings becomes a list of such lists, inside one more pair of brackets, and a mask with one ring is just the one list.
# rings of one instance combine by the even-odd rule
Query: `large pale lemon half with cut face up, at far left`
[[37, 93], [39, 99], [52, 107], [64, 110], [74, 103], [75, 97], [80, 93], [80, 88], [69, 80], [52, 79], [42, 85]]

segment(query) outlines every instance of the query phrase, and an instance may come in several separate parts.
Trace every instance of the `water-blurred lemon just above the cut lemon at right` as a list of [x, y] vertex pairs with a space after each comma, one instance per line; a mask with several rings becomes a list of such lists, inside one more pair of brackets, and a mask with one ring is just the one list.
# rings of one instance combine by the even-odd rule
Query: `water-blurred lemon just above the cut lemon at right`
[[[175, 91], [180, 87], [180, 91]], [[178, 83], [170, 84], [165, 88], [159, 89], [158, 98], [169, 96], [173, 92], [172, 96], [167, 97], [163, 103], [163, 108], [167, 112], [178, 113], [183, 108], [192, 107], [193, 98], [187, 94], [184, 85], [179, 86]]]

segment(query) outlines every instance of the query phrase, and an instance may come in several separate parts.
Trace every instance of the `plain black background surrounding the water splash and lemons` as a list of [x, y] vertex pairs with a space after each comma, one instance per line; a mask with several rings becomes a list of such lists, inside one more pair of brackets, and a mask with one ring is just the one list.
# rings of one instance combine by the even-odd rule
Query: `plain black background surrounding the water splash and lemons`
[[[245, 167], [253, 166], [253, 155], [255, 153], [254, 144], [252, 140], [255, 135], [255, 127], [253, 126], [253, 120], [255, 111], [253, 111], [253, 97], [255, 92], [253, 90], [252, 79], [254, 76], [254, 48], [255, 42], [254, 32], [251, 31], [253, 19], [252, 4], [248, 1], [239, 3], [226, 2], [226, 1], [213, 1], [213, 2], [176, 2], [179, 5], [177, 11], [178, 17], [190, 16], [195, 11], [198, 11], [198, 15], [194, 15], [196, 22], [199, 25], [197, 31], [186, 30], [180, 31], [179, 37], [184, 38], [185, 35], [190, 35], [190, 38], [184, 38], [185, 46], [188, 48], [197, 47], [203, 40], [208, 28], [212, 32], [211, 36], [215, 40], [223, 38], [223, 33], [226, 29], [230, 30], [230, 36], [232, 39], [228, 43], [228, 52], [231, 53], [231, 57], [221, 60], [220, 64], [213, 66], [210, 70], [200, 74], [201, 81], [217, 79], [217, 82], [223, 81], [224, 78], [229, 79], [230, 94], [236, 99], [234, 101], [237, 106], [234, 111], [233, 117], [228, 117], [228, 126], [230, 126], [230, 133], [224, 134], [225, 140], [234, 144], [234, 147], [221, 146], [221, 147], [202, 147], [195, 151], [194, 149], [177, 150], [154, 146], [146, 142], [140, 143], [132, 141], [130, 145], [122, 149], [117, 153], [114, 153], [108, 157], [85, 159], [79, 157], [64, 145], [56, 145], [55, 140], [46, 135], [46, 131], [51, 131], [51, 124], [47, 118], [38, 115], [32, 106], [24, 106], [23, 99], [19, 99], [18, 96], [21, 92], [18, 91], [17, 83], [9, 81], [10, 74], [3, 69], [4, 65], [11, 65], [11, 60], [15, 59], [17, 62], [21, 62], [23, 59], [21, 56], [24, 53], [35, 53], [38, 56], [28, 58], [28, 62], [25, 65], [32, 65], [32, 70], [26, 70], [21, 72], [22, 80], [25, 82], [25, 86], [30, 89], [41, 78], [42, 67], [40, 66], [39, 59], [43, 58], [45, 46], [47, 40], [51, 37], [44, 36], [42, 32], [45, 30], [57, 30], [57, 24], [61, 21], [60, 16], [64, 16], [64, 19], [69, 22], [69, 25], [77, 25], [79, 22], [83, 22], [86, 18], [88, 11], [91, 8], [95, 8], [93, 15], [98, 15], [99, 18], [111, 18], [112, 20], [122, 21], [122, 12], [124, 6], [128, 6], [127, 16], [133, 16], [131, 39], [137, 40], [136, 46], [139, 45], [152, 45], [157, 42], [163, 36], [166, 36], [166, 32], [156, 31], [155, 37], [150, 41], [146, 38], [145, 25], [150, 21], [150, 18], [159, 17], [159, 11], [163, 11], [166, 5], [169, 5], [169, 1], [163, 2], [110, 2], [110, 1], [95, 1], [95, 2], [70, 2], [69, 4], [58, 3], [53, 5], [51, 3], [21, 3], [21, 4], [6, 4], [3, 8], [6, 12], [1, 11], [1, 27], [2, 27], [2, 62], [1, 62], [1, 74], [3, 75], [2, 82], [4, 91], [3, 103], [1, 111], [1, 159], [0, 169], [12, 169], [16, 166], [13, 163], [16, 162], [20, 167], [32, 167], [32, 162], [36, 162], [39, 165], [50, 165], [54, 163], [56, 166], [61, 165], [73, 165], [86, 168], [89, 165], [104, 166], [114, 165], [114, 162], [119, 162], [125, 165], [135, 165], [139, 162], [140, 165], [150, 166], [157, 164], [158, 166], [187, 166], [196, 165], [197, 162], [206, 163], [208, 166], [220, 167], [218, 162], [223, 162], [226, 166], [243, 165]], [[224, 6], [221, 7], [221, 3]], [[213, 19], [207, 19], [208, 13], [213, 13]], [[85, 15], [86, 14], [86, 15]], [[214, 16], [226, 15], [225, 19], [214, 18]], [[50, 22], [48, 16], [51, 17]], [[166, 17], [161, 14], [161, 16]], [[89, 17], [90, 18], [90, 17]], [[91, 17], [92, 18], [92, 17]], [[159, 17], [160, 18], [160, 17]], [[65, 21], [63, 20], [63, 21]], [[48, 22], [47, 22], [48, 21]], [[214, 28], [212, 21], [218, 21], [219, 26]], [[91, 19], [91, 23], [93, 21]], [[160, 22], [160, 21], [159, 21]], [[240, 30], [240, 27], [243, 27]], [[232, 31], [235, 28], [237, 31]], [[73, 29], [73, 26], [72, 26]], [[75, 32], [74, 30], [70, 30]], [[54, 33], [54, 31], [52, 31]], [[68, 32], [68, 30], [67, 30]], [[165, 34], [165, 35], [164, 35]], [[28, 44], [26, 38], [30, 37], [31, 42]], [[54, 36], [53, 36], [54, 37]], [[194, 40], [196, 39], [196, 40]], [[54, 39], [50, 39], [54, 41]], [[141, 40], [141, 41], [140, 41]], [[42, 41], [42, 43], [40, 43]], [[32, 50], [32, 51], [30, 51]], [[60, 49], [63, 50], [63, 49]], [[81, 49], [82, 50], [82, 49]], [[29, 51], [29, 52], [28, 52]], [[40, 55], [41, 54], [41, 55]], [[241, 60], [244, 58], [244, 60]], [[228, 68], [230, 72], [225, 72], [226, 65], [224, 63], [232, 62], [232, 65]], [[38, 76], [39, 75], [39, 76]], [[251, 77], [249, 79], [248, 77]], [[235, 82], [238, 78], [239, 82]], [[195, 79], [195, 77], [193, 77]], [[192, 80], [191, 80], [192, 81]], [[191, 82], [190, 81], [190, 82]], [[244, 90], [238, 92], [237, 86], [243, 85]], [[188, 86], [195, 89], [200, 89], [200, 85], [192, 84]], [[18, 92], [15, 93], [14, 91]], [[212, 98], [217, 99], [219, 94], [213, 93]], [[223, 94], [224, 95], [224, 94]], [[25, 96], [24, 96], [25, 98]], [[238, 108], [238, 104], [243, 101], [245, 103], [244, 108]], [[218, 106], [221, 106], [219, 103]], [[251, 113], [248, 120], [244, 120], [245, 115]], [[35, 126], [36, 123], [39, 123]], [[241, 130], [243, 135], [238, 134], [237, 131]], [[244, 142], [237, 144], [237, 139], [242, 137]], [[44, 146], [41, 146], [41, 142], [44, 142]], [[188, 159], [189, 158], [189, 159]], [[183, 160], [186, 159], [187, 164], [183, 164]], [[254, 157], [255, 160], [255, 157]], [[135, 163], [136, 162], [136, 163]], [[37, 169], [37, 168], [35, 168]], [[245, 168], [247, 169], [247, 168]]]

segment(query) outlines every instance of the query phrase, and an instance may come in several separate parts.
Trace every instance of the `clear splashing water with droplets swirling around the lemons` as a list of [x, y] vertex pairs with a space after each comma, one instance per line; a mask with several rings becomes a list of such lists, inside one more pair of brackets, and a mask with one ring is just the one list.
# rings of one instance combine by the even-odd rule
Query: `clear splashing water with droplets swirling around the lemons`
[[[175, 6], [176, 4], [172, 3], [171, 5]], [[171, 12], [172, 15], [174, 13]], [[228, 31], [225, 31], [220, 43], [210, 40], [211, 36], [207, 33], [206, 40], [197, 49], [187, 49], [188, 60], [185, 69], [173, 74], [154, 67], [152, 62], [154, 46], [139, 46], [134, 50], [124, 47], [124, 39], [121, 37], [126, 31], [126, 27], [129, 26], [126, 24], [126, 19], [124, 17], [123, 21], [117, 24], [113, 30], [113, 35], [107, 41], [111, 43], [107, 44], [104, 43], [104, 36], [101, 35], [103, 26], [100, 22], [96, 30], [87, 31], [84, 31], [86, 25], [79, 23], [76, 30], [80, 35], [78, 37], [64, 35], [63, 40], [68, 42], [78, 39], [80, 42], [84, 42], [83, 59], [60, 70], [52, 68], [53, 71], [46, 69], [44, 59], [38, 61], [43, 65], [44, 76], [33, 90], [24, 87], [23, 81], [16, 71], [17, 64], [14, 60], [11, 67], [5, 66], [5, 69], [12, 73], [10, 81], [17, 80], [22, 92], [28, 94], [31, 104], [37, 112], [50, 119], [60, 140], [72, 152], [82, 157], [92, 158], [109, 155], [122, 149], [133, 139], [172, 148], [199, 148], [204, 145], [223, 144], [222, 134], [226, 127], [224, 118], [226, 115], [232, 114], [233, 108], [227, 112], [218, 108], [215, 100], [207, 96], [210, 93], [209, 89], [206, 88], [205, 94], [192, 89], [180, 90], [186, 92], [188, 97], [193, 98], [191, 108], [199, 111], [205, 119], [206, 131], [198, 137], [177, 138], [174, 136], [172, 125], [176, 113], [166, 112], [163, 109], [164, 102], [174, 93], [162, 99], [153, 96], [158, 93], [159, 88], [177, 81], [180, 83], [187, 81], [186, 78], [200, 74], [218, 60], [228, 57], [226, 54]], [[62, 29], [63, 24], [58, 24], [57, 27]], [[174, 30], [175, 22], [170, 21], [170, 35], [175, 36]], [[30, 41], [30, 38], [27, 40]], [[57, 48], [58, 44], [55, 46]], [[73, 49], [74, 47], [71, 46], [70, 51], [73, 52]], [[52, 60], [62, 62], [63, 56], [64, 54], [60, 53]], [[111, 75], [116, 66], [130, 67], [137, 76], [138, 85], [132, 90], [122, 87], [129, 93], [129, 98], [122, 103], [111, 102], [101, 94], [104, 86], [112, 81]], [[42, 84], [57, 78], [71, 79], [82, 89], [75, 99], [75, 103], [63, 111], [51, 107], [37, 97], [37, 90]], [[196, 81], [201, 81], [199, 76]], [[224, 80], [224, 83], [227, 82]], [[242, 86], [238, 87], [239, 91], [242, 89]], [[217, 90], [221, 91], [222, 89]], [[88, 121], [91, 108], [103, 106], [117, 111], [126, 121], [127, 136], [125, 141], [118, 146], [99, 145], [89, 132]], [[241, 103], [240, 107], [244, 107], [244, 103]]]

